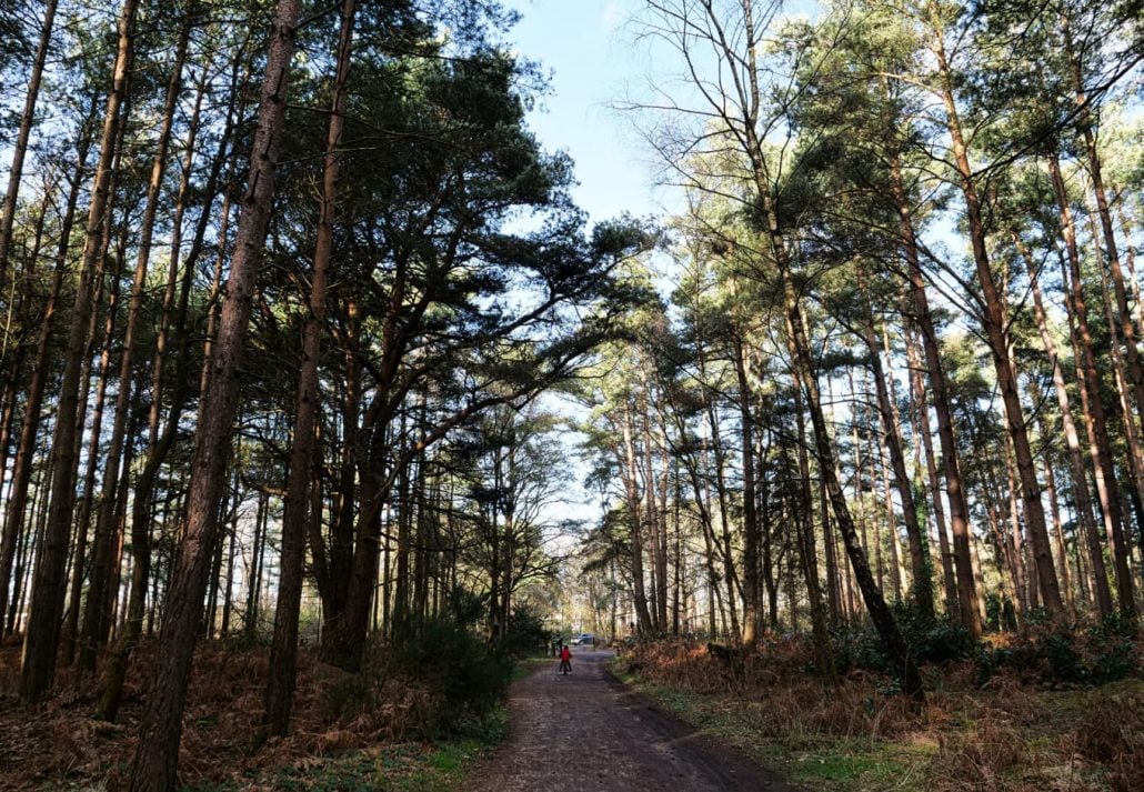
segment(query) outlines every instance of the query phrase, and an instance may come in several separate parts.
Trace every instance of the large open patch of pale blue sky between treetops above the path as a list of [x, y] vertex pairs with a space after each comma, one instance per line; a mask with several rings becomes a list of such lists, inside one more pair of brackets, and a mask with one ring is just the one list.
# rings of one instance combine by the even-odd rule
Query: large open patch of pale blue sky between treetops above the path
[[551, 92], [529, 118], [542, 145], [575, 160], [573, 196], [591, 221], [657, 212], [650, 156], [609, 105], [646, 73], [622, 25], [635, 0], [506, 0], [522, 15], [517, 52], [551, 73]]

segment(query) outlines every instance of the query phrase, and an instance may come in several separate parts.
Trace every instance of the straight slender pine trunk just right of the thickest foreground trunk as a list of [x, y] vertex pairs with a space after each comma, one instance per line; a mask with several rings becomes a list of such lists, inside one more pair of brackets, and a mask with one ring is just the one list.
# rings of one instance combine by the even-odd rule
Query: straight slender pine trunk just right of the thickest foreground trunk
[[318, 365], [321, 357], [321, 326], [326, 317], [326, 283], [334, 246], [334, 212], [337, 206], [339, 152], [344, 126], [345, 84], [349, 79], [353, 42], [353, 15], [357, 0], [342, 3], [337, 41], [336, 76], [326, 133], [321, 200], [318, 206], [318, 239], [310, 279], [310, 304], [302, 331], [302, 363], [297, 377], [294, 411], [294, 441], [289, 452], [286, 506], [283, 514], [281, 571], [275, 636], [270, 646], [270, 674], [267, 678], [263, 728], [271, 735], [286, 735], [297, 675], [297, 620], [302, 604], [305, 561], [307, 505], [311, 461], [315, 456], [315, 426], [318, 414]]

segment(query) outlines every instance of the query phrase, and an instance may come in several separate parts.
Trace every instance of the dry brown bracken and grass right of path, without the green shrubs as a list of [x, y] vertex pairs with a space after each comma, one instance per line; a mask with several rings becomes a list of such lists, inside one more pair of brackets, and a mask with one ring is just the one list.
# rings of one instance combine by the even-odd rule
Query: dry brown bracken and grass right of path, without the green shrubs
[[[664, 641], [625, 659], [665, 703], [817, 789], [925, 792], [1144, 790], [1144, 682], [1049, 689], [964, 663], [927, 668], [915, 708], [890, 680], [810, 673], [800, 641], [764, 644], [739, 664]], [[674, 692], [673, 692], [674, 691]]]

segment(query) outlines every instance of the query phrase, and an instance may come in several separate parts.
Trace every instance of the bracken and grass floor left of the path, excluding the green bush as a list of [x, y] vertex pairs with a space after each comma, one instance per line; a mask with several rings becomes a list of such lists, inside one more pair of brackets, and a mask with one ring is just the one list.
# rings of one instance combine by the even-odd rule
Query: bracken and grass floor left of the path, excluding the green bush
[[[97, 681], [77, 679], [73, 668], [59, 670], [57, 692], [42, 706], [21, 704], [19, 643], [0, 646], [0, 790], [124, 789], [154, 648], [146, 642], [133, 657], [120, 718], [108, 723], [92, 718]], [[482, 731], [420, 738], [410, 727], [422, 691], [398, 679], [367, 683], [303, 651], [292, 732], [262, 740], [267, 667], [265, 647], [200, 643], [180, 750], [184, 792], [451, 792], [507, 728], [501, 711]]]

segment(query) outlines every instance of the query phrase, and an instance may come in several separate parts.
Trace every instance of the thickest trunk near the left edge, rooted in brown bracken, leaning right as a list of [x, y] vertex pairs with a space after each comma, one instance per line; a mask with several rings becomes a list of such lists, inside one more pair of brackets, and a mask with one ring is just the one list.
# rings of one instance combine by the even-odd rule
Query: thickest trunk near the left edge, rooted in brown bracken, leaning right
[[53, 462], [51, 502], [48, 508], [48, 523], [32, 584], [31, 612], [27, 632], [24, 636], [24, 655], [21, 667], [21, 696], [27, 702], [40, 700], [55, 679], [59, 617], [63, 610], [63, 593], [66, 587], [63, 571], [67, 560], [74, 499], [76, 425], [80, 366], [84, 357], [85, 331], [92, 311], [92, 275], [100, 251], [104, 211], [108, 206], [108, 185], [111, 181], [110, 166], [116, 153], [114, 140], [119, 108], [126, 98], [127, 66], [132, 55], [132, 26], [137, 7], [137, 0], [125, 0], [119, 16], [119, 40], [112, 89], [108, 96], [103, 134], [100, 142], [100, 160], [95, 169], [87, 235], [84, 240], [84, 256], [80, 264], [79, 284], [76, 290], [71, 331], [67, 338], [67, 357], [59, 386], [56, 433], [53, 442], [55, 459]]

